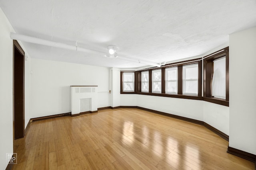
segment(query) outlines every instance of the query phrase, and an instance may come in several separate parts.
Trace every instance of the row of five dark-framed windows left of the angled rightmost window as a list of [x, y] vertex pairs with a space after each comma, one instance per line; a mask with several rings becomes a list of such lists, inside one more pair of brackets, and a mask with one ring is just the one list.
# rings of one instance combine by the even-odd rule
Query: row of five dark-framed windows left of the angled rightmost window
[[202, 97], [202, 58], [120, 72], [120, 94], [140, 94], [192, 100]]

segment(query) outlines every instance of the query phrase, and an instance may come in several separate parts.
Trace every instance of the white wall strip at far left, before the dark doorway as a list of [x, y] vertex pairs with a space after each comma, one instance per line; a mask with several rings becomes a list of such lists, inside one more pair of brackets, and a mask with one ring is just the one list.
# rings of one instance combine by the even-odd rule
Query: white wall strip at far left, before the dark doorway
[[0, 169], [5, 169], [6, 153], [13, 152], [12, 127], [12, 26], [0, 8]]

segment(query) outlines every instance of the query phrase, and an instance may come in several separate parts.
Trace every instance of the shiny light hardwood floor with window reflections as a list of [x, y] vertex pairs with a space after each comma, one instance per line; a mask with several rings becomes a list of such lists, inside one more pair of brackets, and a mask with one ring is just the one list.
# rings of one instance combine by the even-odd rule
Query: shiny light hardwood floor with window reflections
[[106, 109], [30, 123], [14, 141], [13, 170], [243, 170], [254, 163], [226, 153], [206, 129], [140, 109]]

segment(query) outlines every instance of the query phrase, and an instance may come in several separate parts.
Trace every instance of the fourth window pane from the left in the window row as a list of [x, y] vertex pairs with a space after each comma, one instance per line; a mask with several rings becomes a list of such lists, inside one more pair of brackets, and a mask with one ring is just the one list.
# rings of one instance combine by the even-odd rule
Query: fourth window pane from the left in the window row
[[178, 67], [165, 69], [165, 93], [177, 94], [178, 92]]

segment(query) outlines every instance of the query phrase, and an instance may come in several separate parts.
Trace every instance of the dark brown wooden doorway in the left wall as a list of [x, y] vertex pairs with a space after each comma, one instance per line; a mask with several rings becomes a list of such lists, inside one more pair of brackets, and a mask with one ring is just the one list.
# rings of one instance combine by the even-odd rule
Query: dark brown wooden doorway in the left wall
[[25, 135], [24, 65], [25, 53], [18, 41], [13, 41], [13, 128], [14, 139]]

